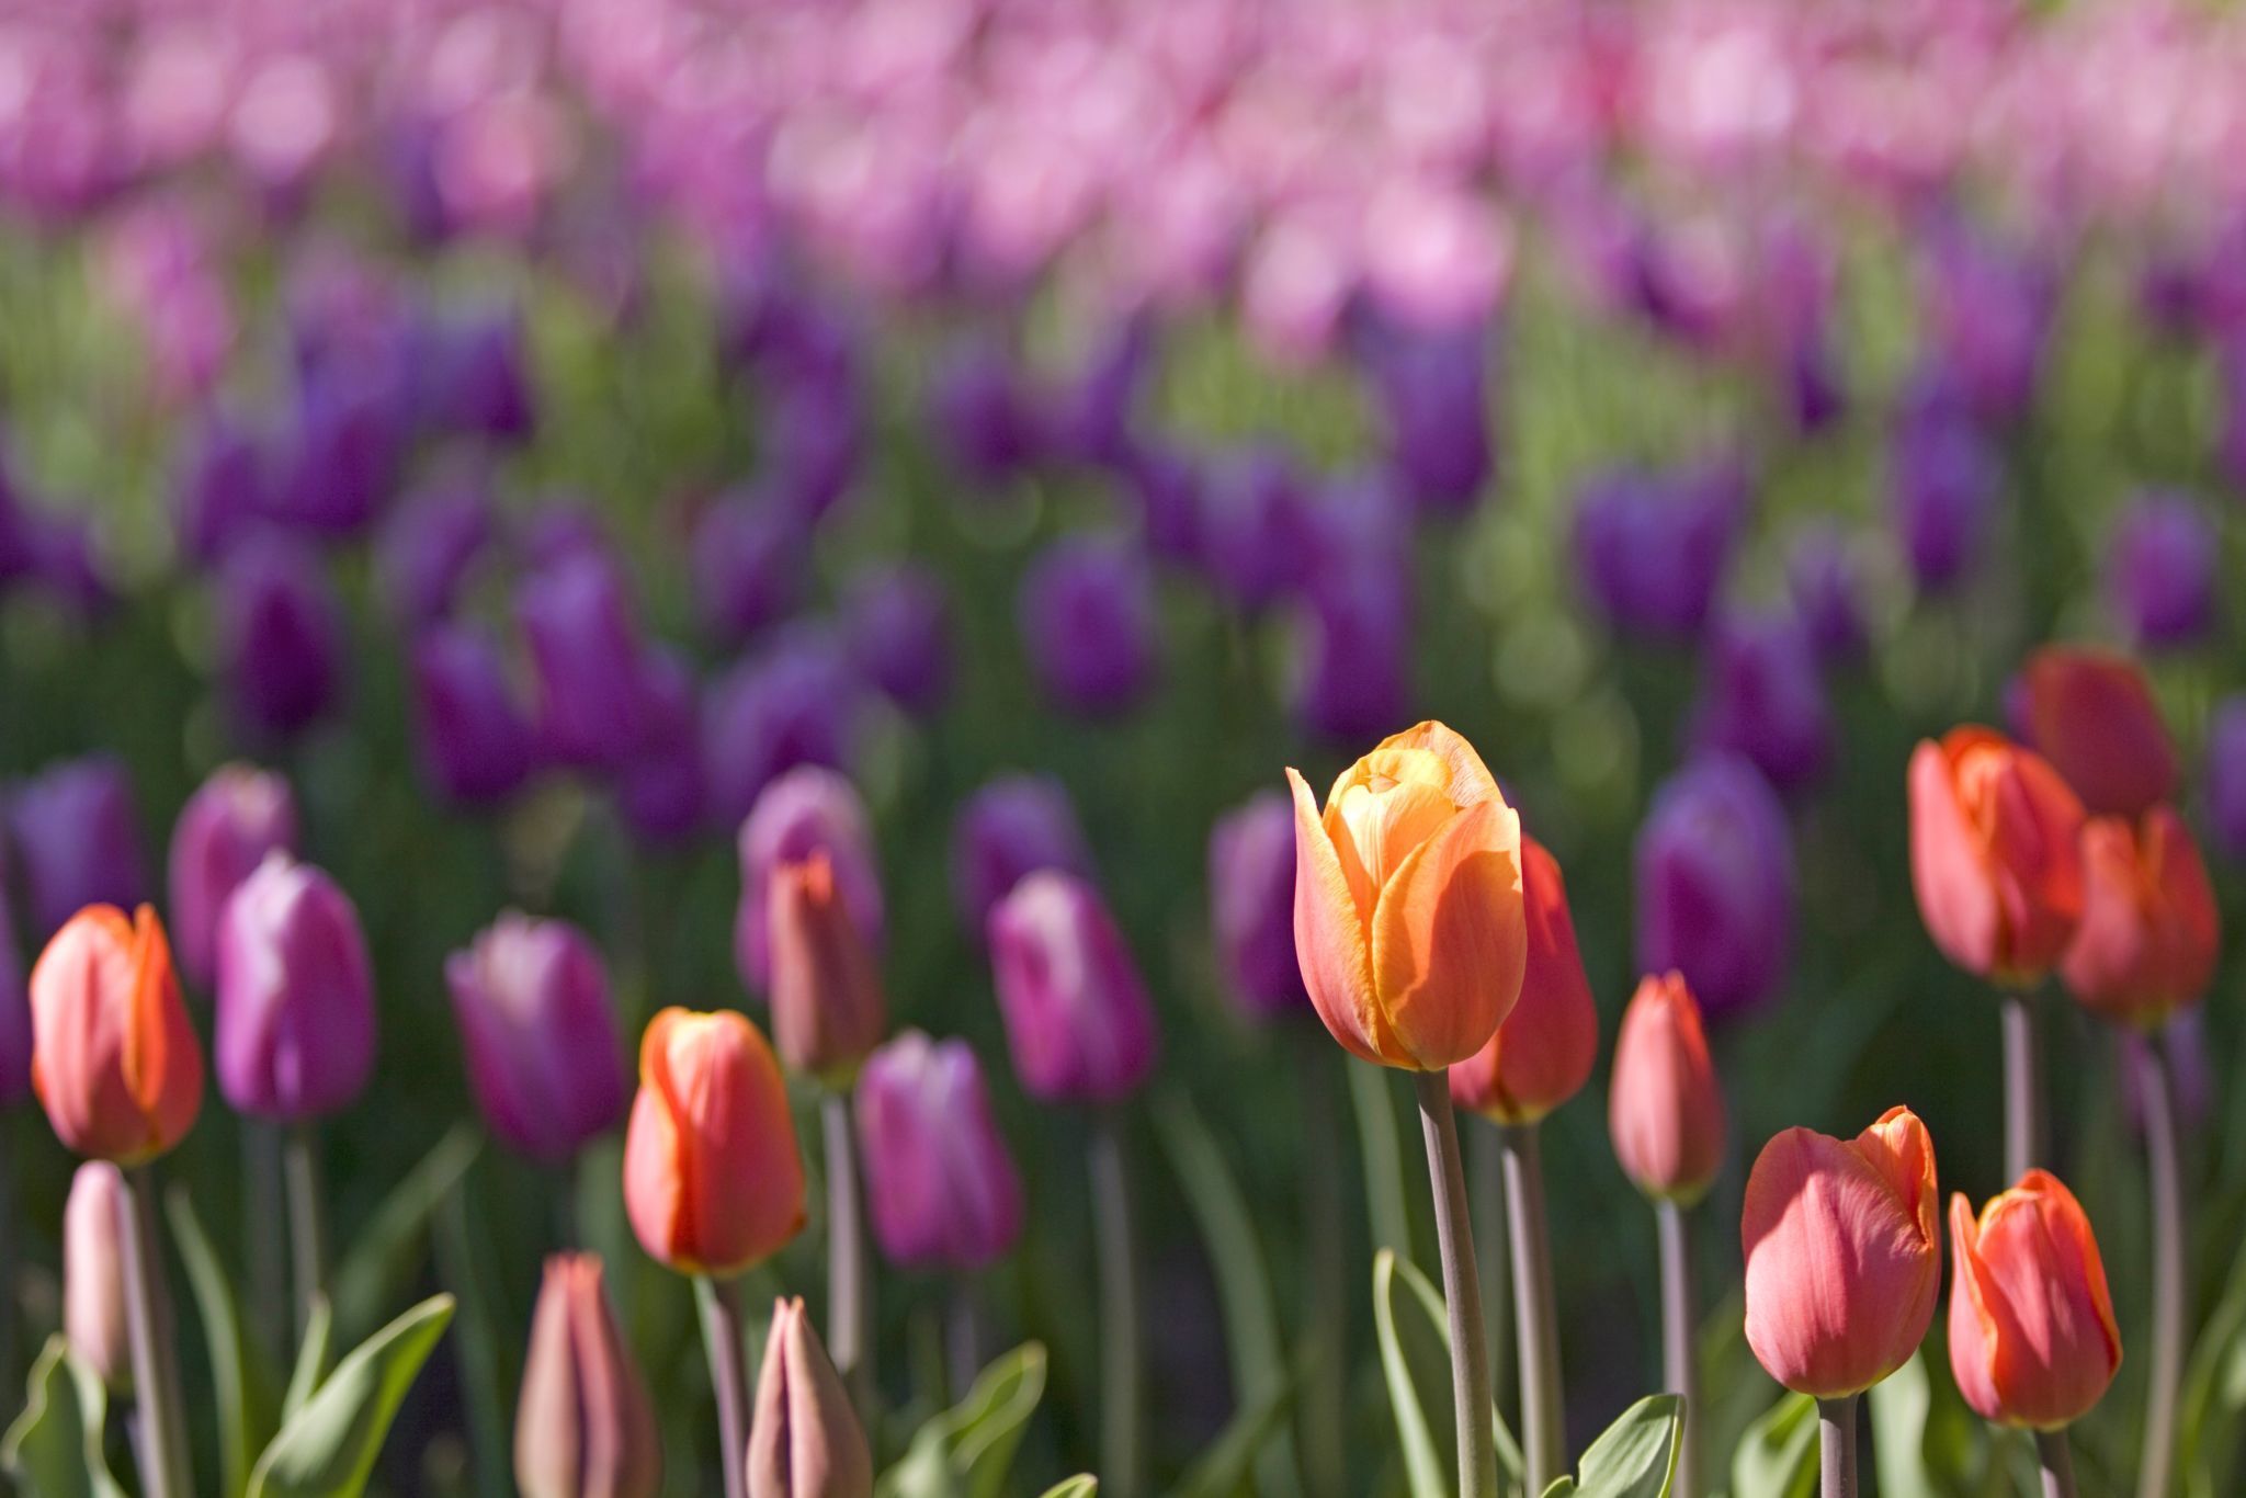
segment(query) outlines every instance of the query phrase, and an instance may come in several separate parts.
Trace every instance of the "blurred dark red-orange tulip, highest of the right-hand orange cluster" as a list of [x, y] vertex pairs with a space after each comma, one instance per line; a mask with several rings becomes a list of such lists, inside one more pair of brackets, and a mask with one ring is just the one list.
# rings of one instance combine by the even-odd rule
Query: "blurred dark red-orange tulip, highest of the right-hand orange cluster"
[[2134, 660], [2046, 645], [2019, 681], [2028, 737], [2084, 809], [2134, 817], [2176, 793], [2176, 746]]

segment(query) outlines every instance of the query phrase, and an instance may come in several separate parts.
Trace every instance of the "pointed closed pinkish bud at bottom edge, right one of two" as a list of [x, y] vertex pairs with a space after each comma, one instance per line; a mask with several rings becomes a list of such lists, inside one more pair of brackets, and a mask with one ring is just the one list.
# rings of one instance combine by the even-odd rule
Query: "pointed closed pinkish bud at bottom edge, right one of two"
[[874, 1455], [804, 1303], [775, 1300], [748, 1435], [748, 1498], [871, 1498]]

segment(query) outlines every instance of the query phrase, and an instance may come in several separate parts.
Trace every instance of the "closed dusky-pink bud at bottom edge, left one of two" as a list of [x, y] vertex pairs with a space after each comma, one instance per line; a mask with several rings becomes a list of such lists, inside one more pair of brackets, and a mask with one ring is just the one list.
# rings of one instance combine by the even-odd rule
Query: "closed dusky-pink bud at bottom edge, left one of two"
[[546, 1260], [514, 1410], [523, 1498], [654, 1498], [663, 1433], [595, 1253]]

